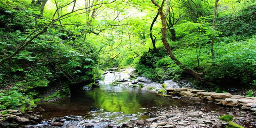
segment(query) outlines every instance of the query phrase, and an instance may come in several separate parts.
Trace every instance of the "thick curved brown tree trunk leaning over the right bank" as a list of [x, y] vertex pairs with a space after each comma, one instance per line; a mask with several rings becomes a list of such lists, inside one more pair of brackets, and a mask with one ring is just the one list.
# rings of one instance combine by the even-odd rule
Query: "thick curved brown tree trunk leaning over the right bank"
[[[166, 39], [166, 16], [167, 16], [167, 13], [168, 13], [168, 10], [169, 10], [169, 1], [168, 0], [163, 0], [161, 6], [159, 6], [157, 4], [157, 2], [155, 0], [151, 0], [152, 3], [158, 7], [158, 12], [160, 13], [160, 16], [161, 16], [161, 21], [162, 21], [162, 28], [161, 28], [161, 33], [162, 33], [162, 42], [163, 42], [163, 45], [164, 45], [164, 48], [166, 50], [166, 53], [169, 55], [169, 57], [174, 61], [174, 63], [176, 65], [178, 65], [181, 69], [183, 69], [185, 72], [193, 75], [195, 77], [195, 79], [197, 81], [201, 80], [202, 79], [202, 75], [203, 73], [197, 73], [195, 72], [194, 70], [192, 70], [191, 68], [188, 68], [186, 65], [182, 64], [175, 56], [174, 54], [172, 53], [171, 51], [171, 48], [169, 46], [169, 43], [167, 42], [167, 39]], [[163, 4], [164, 4], [164, 1], [166, 1], [166, 11], [165, 11], [165, 14], [163, 13]]]

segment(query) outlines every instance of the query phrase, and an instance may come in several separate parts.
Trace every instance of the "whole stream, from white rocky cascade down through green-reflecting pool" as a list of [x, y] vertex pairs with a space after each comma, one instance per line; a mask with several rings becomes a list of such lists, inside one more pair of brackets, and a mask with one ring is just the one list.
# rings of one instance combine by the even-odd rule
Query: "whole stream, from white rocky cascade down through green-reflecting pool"
[[[99, 81], [100, 88], [92, 88], [91, 90], [85, 88], [83, 92], [72, 93], [68, 98], [37, 104], [35, 113], [42, 115], [46, 121], [36, 127], [101, 128], [109, 127], [109, 125], [118, 127], [130, 120], [149, 118], [145, 113], [156, 111], [161, 107], [192, 106], [193, 102], [198, 102], [188, 98], [165, 98], [154, 92], [154, 90], [161, 88], [162, 84], [155, 83], [145, 77], [131, 80], [132, 71], [132, 68], [127, 68], [121, 72], [108, 72], [104, 74], [104, 80]], [[112, 85], [111, 83], [114, 81], [122, 82], [117, 83], [118, 85]], [[132, 88], [138, 83], [144, 87]], [[180, 87], [178, 83], [172, 80], [164, 83], [168, 88]], [[150, 86], [154, 87], [153, 91], [147, 89]], [[218, 109], [219, 106], [214, 104], [208, 102], [202, 104], [211, 108], [212, 111], [225, 112]], [[99, 108], [99, 110], [91, 111], [90, 106]], [[38, 108], [43, 108], [45, 111], [39, 111]]]

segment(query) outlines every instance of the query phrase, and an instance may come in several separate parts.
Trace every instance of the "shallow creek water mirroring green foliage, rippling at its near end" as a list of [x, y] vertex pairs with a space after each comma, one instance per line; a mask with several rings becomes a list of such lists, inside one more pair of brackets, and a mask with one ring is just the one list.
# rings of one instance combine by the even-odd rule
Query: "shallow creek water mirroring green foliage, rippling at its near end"
[[[128, 85], [114, 86], [109, 84], [113, 82], [113, 79], [119, 79], [120, 77], [113, 73], [107, 73], [105, 79], [100, 82], [100, 88], [72, 93], [70, 97], [60, 101], [40, 103], [37, 108], [41, 107], [45, 111], [38, 111], [37, 109], [35, 111], [38, 115], [42, 115], [50, 121], [57, 117], [69, 118], [69, 121], [64, 122], [63, 128], [86, 127], [88, 123], [94, 123], [94, 127], [104, 127], [108, 124], [122, 125], [131, 119], [148, 118], [147, 116], [141, 116], [142, 113], [154, 111], [159, 107], [191, 106], [192, 102], [195, 102], [187, 98], [165, 98], [155, 92], [131, 88]], [[205, 105], [213, 107], [210, 104]], [[90, 111], [90, 106], [100, 110]], [[74, 119], [70, 120], [70, 118]], [[45, 126], [38, 125], [38, 127]]]

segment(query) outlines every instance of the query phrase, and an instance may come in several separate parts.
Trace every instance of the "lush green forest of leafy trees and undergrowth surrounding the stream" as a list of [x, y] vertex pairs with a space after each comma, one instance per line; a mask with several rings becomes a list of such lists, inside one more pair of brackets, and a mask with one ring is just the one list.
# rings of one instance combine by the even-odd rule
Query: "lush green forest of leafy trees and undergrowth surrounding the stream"
[[30, 110], [130, 67], [255, 97], [256, 0], [0, 1], [0, 110]]

